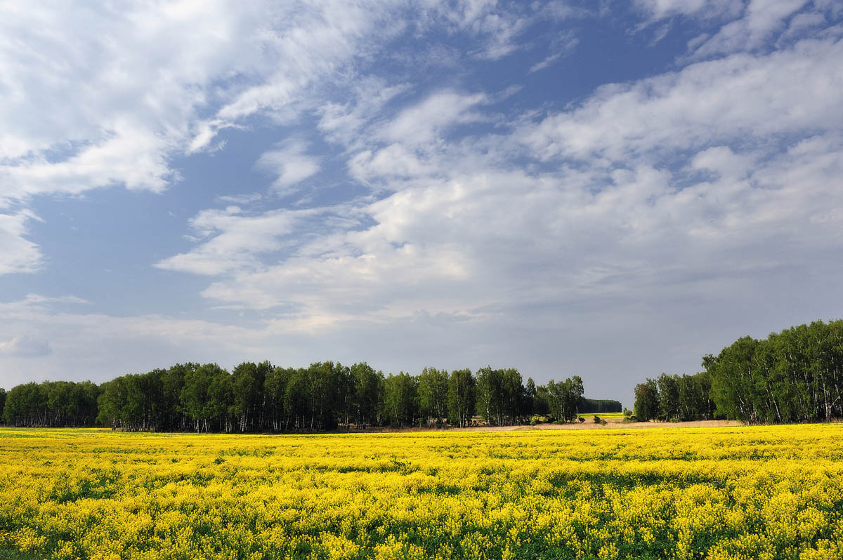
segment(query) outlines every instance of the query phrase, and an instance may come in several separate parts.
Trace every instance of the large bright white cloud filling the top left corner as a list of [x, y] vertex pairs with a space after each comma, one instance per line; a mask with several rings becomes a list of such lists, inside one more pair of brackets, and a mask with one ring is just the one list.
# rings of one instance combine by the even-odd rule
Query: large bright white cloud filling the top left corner
[[318, 103], [312, 88], [395, 33], [392, 10], [3, 3], [0, 203], [113, 184], [165, 189], [179, 179], [170, 159], [210, 147], [218, 131]]

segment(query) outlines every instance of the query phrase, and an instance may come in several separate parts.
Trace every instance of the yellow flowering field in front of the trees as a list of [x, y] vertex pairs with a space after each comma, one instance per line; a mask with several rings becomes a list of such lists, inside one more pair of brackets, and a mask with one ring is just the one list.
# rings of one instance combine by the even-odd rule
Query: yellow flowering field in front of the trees
[[0, 429], [0, 547], [55, 558], [840, 558], [841, 460], [840, 424]]

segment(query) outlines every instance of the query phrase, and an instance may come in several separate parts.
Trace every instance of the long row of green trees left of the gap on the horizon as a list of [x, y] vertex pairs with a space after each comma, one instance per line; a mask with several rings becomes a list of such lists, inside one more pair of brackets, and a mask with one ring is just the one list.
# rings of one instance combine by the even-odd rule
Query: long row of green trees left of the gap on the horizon
[[583, 397], [579, 376], [536, 386], [513, 368], [384, 376], [366, 363], [332, 361], [305, 368], [244, 362], [230, 372], [217, 364], [176, 364], [99, 385], [33, 381], [0, 398], [3, 420], [15, 426], [226, 433], [464, 427], [475, 415], [490, 425], [523, 424], [536, 415], [571, 422], [579, 412], [621, 409], [617, 401]]

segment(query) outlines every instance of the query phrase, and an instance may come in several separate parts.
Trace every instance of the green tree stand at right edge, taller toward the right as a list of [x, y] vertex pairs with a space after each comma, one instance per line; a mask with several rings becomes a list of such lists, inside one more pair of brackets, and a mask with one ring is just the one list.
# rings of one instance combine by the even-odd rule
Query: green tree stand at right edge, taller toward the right
[[745, 336], [702, 359], [695, 375], [635, 388], [638, 419], [816, 422], [843, 417], [843, 320]]

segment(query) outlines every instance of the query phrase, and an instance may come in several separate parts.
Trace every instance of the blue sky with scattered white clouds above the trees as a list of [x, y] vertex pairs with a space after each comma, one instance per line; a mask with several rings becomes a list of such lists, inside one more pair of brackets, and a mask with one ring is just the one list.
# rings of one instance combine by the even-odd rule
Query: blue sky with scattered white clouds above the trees
[[0, 3], [0, 387], [516, 367], [843, 317], [843, 3]]

